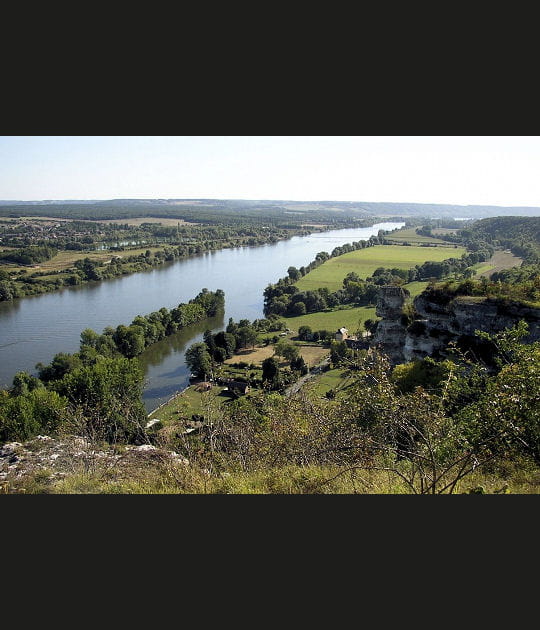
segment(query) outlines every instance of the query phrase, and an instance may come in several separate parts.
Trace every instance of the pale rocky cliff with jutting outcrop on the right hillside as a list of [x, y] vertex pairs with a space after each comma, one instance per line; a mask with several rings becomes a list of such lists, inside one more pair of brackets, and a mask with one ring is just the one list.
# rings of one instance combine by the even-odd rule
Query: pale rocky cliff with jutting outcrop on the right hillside
[[478, 296], [452, 296], [426, 290], [414, 299], [419, 319], [407, 325], [402, 309], [405, 294], [399, 287], [382, 287], [376, 313], [383, 319], [377, 326], [373, 344], [403, 363], [430, 356], [446, 356], [448, 343], [474, 344], [476, 330], [497, 333], [524, 320], [530, 343], [540, 339], [540, 309], [516, 301]]

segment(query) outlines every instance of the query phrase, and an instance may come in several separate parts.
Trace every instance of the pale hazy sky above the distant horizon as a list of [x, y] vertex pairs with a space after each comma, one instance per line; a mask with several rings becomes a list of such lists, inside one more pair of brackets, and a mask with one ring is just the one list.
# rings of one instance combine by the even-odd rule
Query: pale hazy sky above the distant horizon
[[0, 199], [540, 206], [540, 136], [0, 136]]

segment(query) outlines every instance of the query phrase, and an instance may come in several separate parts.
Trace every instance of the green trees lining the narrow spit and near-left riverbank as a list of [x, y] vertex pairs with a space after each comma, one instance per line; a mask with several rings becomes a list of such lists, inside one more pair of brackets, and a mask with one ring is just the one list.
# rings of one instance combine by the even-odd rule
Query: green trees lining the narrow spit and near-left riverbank
[[187, 304], [138, 315], [129, 326], [107, 327], [101, 335], [83, 330], [78, 352], [38, 363], [38, 376], [18, 372], [12, 387], [0, 390], [0, 442], [61, 430], [108, 442], [148, 441], [144, 375], [134, 357], [223, 305], [223, 291], [202, 289]]

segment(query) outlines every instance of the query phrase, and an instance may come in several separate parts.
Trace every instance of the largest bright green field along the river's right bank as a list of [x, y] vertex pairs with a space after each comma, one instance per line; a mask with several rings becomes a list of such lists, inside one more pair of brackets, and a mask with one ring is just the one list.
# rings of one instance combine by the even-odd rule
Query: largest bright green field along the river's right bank
[[351, 271], [364, 279], [371, 276], [378, 267], [410, 269], [427, 260], [440, 262], [447, 258], [460, 258], [464, 253], [463, 247], [375, 245], [331, 258], [300, 278], [295, 285], [300, 291], [321, 287], [327, 287], [329, 291], [337, 291], [343, 287], [343, 278]]

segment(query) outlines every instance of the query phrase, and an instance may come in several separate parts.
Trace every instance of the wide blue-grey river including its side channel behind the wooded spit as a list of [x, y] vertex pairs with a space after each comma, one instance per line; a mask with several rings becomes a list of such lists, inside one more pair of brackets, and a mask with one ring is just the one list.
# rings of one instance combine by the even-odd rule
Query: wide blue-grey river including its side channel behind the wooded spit
[[156, 269], [113, 280], [69, 287], [54, 293], [0, 303], [0, 387], [10, 387], [19, 371], [35, 374], [38, 362], [50, 363], [58, 352], [77, 352], [85, 328], [101, 333], [106, 326], [130, 324], [163, 306], [188, 302], [206, 287], [225, 291], [223, 317], [206, 320], [148, 348], [139, 360], [145, 371], [143, 399], [148, 411], [189, 383], [184, 352], [203, 332], [222, 330], [229, 317], [254, 320], [263, 315], [263, 291], [321, 251], [367, 240], [379, 230], [404, 223], [317, 232], [256, 247], [207, 252]]

